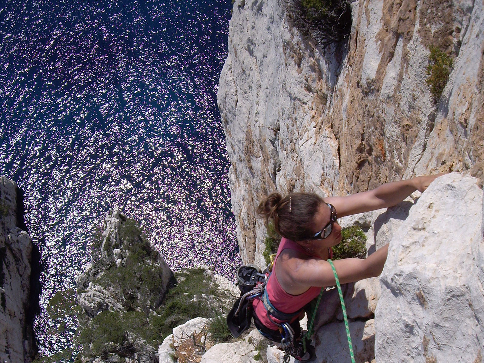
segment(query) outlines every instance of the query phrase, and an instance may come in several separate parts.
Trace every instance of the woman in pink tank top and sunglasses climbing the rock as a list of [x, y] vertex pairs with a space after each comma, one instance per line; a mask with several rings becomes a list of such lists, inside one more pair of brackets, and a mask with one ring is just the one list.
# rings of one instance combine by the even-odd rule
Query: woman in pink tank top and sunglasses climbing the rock
[[[287, 341], [285, 334], [301, 336], [299, 319], [304, 316], [303, 307], [318, 297], [321, 287], [336, 285], [327, 259], [332, 257], [332, 247], [341, 242], [338, 217], [394, 206], [415, 190], [423, 192], [438, 176], [390, 182], [347, 197], [321, 198], [309, 193], [282, 197], [272, 193], [263, 200], [257, 213], [266, 225], [273, 223], [282, 240], [264, 296], [252, 302], [252, 315], [259, 331], [273, 341], [281, 341], [281, 333], [283, 341]], [[339, 282], [345, 284], [378, 276], [387, 252], [388, 244], [366, 259], [335, 260]], [[308, 359], [308, 354], [302, 358], [304, 352], [292, 349], [291, 355], [300, 361]]]

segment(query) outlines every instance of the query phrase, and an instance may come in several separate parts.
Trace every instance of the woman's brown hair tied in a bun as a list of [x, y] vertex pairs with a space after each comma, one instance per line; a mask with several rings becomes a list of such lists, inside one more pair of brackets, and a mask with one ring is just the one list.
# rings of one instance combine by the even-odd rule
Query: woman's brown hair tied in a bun
[[313, 237], [311, 225], [323, 199], [312, 193], [291, 193], [282, 197], [272, 193], [257, 206], [257, 214], [264, 224], [272, 221], [281, 236], [293, 241], [304, 241]]

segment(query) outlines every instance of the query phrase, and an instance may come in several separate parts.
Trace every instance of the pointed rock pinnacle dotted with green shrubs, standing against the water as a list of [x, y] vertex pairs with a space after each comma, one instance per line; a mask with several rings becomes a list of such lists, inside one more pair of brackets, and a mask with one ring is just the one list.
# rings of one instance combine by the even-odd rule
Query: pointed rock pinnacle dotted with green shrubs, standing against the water
[[156, 363], [143, 330], [158, 316], [172, 277], [136, 223], [112, 210], [93, 243], [93, 263], [77, 278], [82, 362]]

